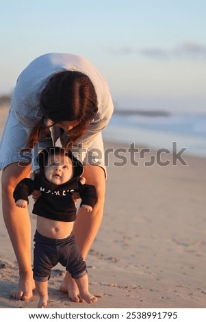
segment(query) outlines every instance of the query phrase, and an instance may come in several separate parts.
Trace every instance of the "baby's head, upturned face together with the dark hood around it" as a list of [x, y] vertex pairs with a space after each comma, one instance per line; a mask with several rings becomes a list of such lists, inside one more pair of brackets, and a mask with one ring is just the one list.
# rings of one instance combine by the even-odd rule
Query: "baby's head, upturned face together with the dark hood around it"
[[38, 155], [40, 172], [53, 184], [65, 184], [74, 177], [72, 154], [60, 147], [42, 150]]

